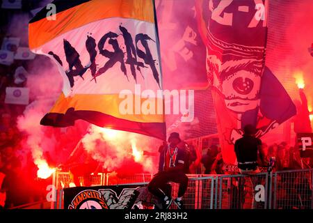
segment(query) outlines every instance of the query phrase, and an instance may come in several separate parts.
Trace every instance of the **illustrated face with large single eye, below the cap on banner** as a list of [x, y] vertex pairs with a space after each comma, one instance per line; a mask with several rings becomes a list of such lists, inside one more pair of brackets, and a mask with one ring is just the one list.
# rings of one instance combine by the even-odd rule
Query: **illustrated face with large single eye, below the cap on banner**
[[207, 58], [210, 82], [223, 94], [232, 112], [243, 113], [257, 108], [261, 84], [262, 60], [234, 59], [221, 62], [215, 55]]

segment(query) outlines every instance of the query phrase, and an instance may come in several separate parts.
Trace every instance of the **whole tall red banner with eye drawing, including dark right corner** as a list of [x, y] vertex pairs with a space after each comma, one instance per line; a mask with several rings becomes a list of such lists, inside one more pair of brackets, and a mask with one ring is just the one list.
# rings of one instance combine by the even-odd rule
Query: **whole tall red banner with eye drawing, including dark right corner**
[[[236, 163], [234, 141], [243, 127], [257, 137], [296, 114], [291, 98], [265, 68], [267, 0], [195, 1], [207, 47], [207, 77], [216, 109], [223, 160]], [[204, 20], [205, 10], [208, 20]]]

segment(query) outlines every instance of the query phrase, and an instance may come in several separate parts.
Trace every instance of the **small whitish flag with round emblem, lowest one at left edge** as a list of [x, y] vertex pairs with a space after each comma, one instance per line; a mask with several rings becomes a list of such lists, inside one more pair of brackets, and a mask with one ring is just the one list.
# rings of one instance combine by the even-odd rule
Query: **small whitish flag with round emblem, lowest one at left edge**
[[6, 88], [6, 104], [29, 105], [29, 88]]

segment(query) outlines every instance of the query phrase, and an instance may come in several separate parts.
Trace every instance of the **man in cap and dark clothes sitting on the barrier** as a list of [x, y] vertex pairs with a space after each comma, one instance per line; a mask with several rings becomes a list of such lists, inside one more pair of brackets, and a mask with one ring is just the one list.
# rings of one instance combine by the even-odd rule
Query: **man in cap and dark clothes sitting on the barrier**
[[184, 172], [186, 160], [186, 143], [179, 138], [177, 132], [172, 132], [168, 137], [168, 145], [164, 144], [160, 151], [159, 173], [152, 178], [148, 185], [151, 194], [159, 197], [162, 206], [168, 209], [172, 203], [170, 192], [165, 190], [166, 185], [171, 181], [179, 183], [177, 199], [174, 200], [179, 209], [184, 209], [182, 197], [187, 190], [188, 177]]

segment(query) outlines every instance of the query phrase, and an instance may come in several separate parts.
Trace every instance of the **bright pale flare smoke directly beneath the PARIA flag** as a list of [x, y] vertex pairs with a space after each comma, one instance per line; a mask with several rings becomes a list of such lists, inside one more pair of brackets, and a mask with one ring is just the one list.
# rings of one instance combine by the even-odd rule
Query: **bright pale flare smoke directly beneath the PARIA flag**
[[157, 139], [90, 125], [82, 142], [86, 151], [109, 172], [138, 174], [157, 171], [157, 157], [143, 155], [144, 151], [157, 151], [161, 144]]

